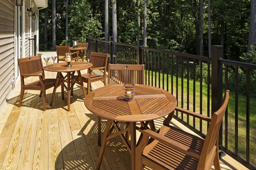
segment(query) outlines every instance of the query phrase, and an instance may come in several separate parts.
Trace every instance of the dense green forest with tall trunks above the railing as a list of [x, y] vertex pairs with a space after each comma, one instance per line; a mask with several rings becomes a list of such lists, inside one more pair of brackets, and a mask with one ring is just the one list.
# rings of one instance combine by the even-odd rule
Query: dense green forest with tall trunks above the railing
[[[105, 1], [48, 0], [48, 7], [39, 14], [39, 50], [55, 50], [55, 45], [69, 42], [69, 35], [97, 35], [104, 40]], [[255, 35], [248, 43], [252, 10], [256, 17], [255, 1], [107, 0], [108, 34], [112, 36], [112, 9], [116, 3], [117, 42], [135, 45], [137, 38], [143, 38], [146, 16], [144, 45], [148, 47], [210, 56], [209, 44], [223, 45], [224, 58], [253, 62], [256, 59], [243, 56], [255, 51], [255, 46], [248, 48], [255, 45]], [[256, 29], [256, 21], [254, 24]]]

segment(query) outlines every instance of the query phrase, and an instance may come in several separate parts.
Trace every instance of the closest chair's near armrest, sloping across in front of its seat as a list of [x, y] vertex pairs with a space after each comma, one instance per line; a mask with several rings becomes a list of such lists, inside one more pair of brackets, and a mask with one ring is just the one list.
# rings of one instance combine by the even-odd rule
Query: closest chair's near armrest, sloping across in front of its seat
[[141, 133], [143, 133], [143, 135], [150, 136], [151, 138], [156, 139], [157, 141], [162, 142], [163, 144], [166, 144], [182, 153], [196, 157], [198, 159], [200, 157], [200, 152], [192, 149], [191, 147], [186, 146], [185, 144], [181, 144], [179, 142], [167, 138], [166, 136], [162, 136], [159, 133], [154, 132], [153, 130], [143, 128], [139, 128], [138, 130]]

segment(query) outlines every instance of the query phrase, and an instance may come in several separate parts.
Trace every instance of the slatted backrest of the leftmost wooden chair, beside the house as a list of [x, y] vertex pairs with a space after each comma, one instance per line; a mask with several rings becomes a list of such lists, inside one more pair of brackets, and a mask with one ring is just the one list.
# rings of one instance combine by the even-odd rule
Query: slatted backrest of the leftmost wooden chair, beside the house
[[[28, 74], [41, 74], [44, 73], [43, 63], [40, 56], [26, 57], [18, 59], [18, 65], [20, 68], [20, 76]], [[25, 76], [24, 78], [29, 77]]]

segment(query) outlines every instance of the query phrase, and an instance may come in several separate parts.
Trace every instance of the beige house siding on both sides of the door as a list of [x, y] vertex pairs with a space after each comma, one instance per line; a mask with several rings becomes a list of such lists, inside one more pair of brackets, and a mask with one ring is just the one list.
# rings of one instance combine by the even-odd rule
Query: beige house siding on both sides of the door
[[[29, 38], [34, 37], [35, 20], [32, 20], [26, 11], [30, 8], [30, 0], [24, 0], [23, 6], [25, 6], [23, 8], [25, 10], [23, 56], [29, 57]], [[38, 16], [38, 7], [35, 3], [32, 10]], [[31, 48], [33, 47], [31, 43]], [[33, 55], [32, 49], [30, 54]], [[17, 56], [15, 56], [15, 0], [0, 0], [0, 111], [15, 88], [15, 84], [12, 85], [12, 81], [17, 78], [15, 77], [15, 60], [17, 61]]]

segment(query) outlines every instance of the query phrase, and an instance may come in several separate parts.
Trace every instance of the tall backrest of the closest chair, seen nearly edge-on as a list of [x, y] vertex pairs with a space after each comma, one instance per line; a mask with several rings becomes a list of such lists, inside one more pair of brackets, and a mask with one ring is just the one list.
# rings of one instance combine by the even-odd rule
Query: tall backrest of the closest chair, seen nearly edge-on
[[218, 147], [219, 130], [221, 127], [222, 118], [227, 108], [228, 100], [229, 100], [229, 91], [227, 90], [225, 92], [221, 107], [218, 109], [218, 111], [214, 112], [212, 115], [212, 120], [211, 120], [209, 129], [207, 131], [207, 136], [205, 138], [204, 146], [198, 162], [199, 169], [200, 168], [205, 169], [206, 168], [205, 166], [208, 166], [207, 162], [209, 160], [214, 159], [214, 156], [212, 156], [211, 153], [214, 152], [213, 150], [214, 146]]

